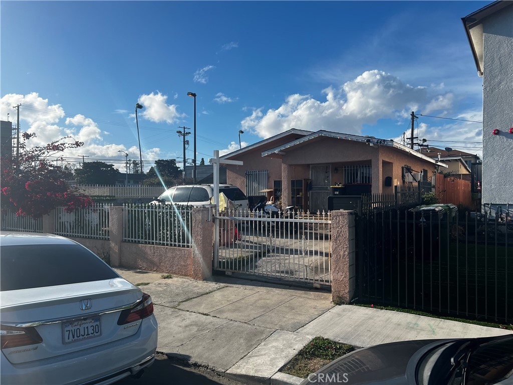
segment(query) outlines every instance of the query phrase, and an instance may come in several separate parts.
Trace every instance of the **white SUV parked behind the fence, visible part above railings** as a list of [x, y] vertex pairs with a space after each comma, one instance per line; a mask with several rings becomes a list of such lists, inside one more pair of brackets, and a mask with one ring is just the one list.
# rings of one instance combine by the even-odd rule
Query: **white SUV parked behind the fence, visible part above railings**
[[[240, 210], [248, 209], [248, 198], [239, 187], [231, 184], [220, 184], [219, 192], [226, 195]], [[191, 206], [205, 206], [211, 203], [214, 196], [213, 184], [191, 184], [174, 186], [167, 189], [158, 199], [152, 203], [176, 203]]]

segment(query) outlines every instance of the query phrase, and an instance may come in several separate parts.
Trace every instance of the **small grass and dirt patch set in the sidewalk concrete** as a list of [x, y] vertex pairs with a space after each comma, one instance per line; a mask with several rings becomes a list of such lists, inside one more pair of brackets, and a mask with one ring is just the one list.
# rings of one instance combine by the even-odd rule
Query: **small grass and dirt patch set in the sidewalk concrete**
[[310, 373], [317, 372], [327, 363], [356, 349], [356, 347], [347, 343], [332, 341], [324, 337], [315, 337], [280, 372], [306, 378]]

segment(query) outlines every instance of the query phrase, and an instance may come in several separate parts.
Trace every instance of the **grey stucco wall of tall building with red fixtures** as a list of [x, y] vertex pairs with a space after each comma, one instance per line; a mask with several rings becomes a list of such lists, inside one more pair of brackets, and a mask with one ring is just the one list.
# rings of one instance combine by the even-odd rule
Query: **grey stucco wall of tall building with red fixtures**
[[[513, 202], [513, 5], [483, 20], [483, 203]], [[492, 130], [499, 129], [498, 135]]]

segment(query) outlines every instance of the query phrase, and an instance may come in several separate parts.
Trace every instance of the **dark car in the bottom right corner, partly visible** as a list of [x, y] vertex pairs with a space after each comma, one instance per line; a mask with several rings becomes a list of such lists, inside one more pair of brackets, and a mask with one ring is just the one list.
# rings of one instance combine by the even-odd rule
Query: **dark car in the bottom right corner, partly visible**
[[513, 383], [513, 335], [392, 342], [342, 356], [310, 374], [313, 384]]

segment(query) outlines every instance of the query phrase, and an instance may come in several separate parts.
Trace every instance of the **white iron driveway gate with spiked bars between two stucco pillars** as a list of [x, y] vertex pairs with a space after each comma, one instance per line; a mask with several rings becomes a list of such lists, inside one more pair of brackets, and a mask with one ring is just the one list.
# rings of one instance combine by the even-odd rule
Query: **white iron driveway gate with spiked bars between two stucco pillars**
[[[226, 213], [224, 213], [226, 214]], [[329, 214], [231, 211], [215, 217], [215, 271], [314, 287], [331, 286]]]

